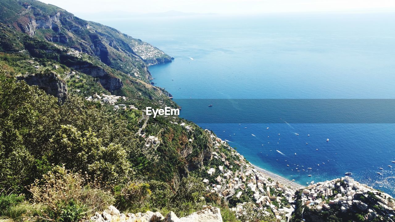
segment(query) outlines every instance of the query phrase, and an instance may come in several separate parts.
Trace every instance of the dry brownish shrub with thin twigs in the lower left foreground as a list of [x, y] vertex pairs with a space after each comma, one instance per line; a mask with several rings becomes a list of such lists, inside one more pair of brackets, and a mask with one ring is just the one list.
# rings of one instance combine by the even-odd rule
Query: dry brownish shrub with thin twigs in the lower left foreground
[[91, 181], [88, 175], [55, 166], [30, 188], [32, 201], [44, 206], [38, 218], [58, 218], [59, 222], [77, 221], [112, 204], [114, 199], [109, 192]]

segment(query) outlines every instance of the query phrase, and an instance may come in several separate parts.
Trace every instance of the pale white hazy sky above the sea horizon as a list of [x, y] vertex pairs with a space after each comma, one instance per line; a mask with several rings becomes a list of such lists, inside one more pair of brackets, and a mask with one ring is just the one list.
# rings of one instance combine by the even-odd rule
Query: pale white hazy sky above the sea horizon
[[395, 0], [40, 0], [75, 15], [125, 11], [160, 13], [284, 13], [314, 11], [395, 11]]

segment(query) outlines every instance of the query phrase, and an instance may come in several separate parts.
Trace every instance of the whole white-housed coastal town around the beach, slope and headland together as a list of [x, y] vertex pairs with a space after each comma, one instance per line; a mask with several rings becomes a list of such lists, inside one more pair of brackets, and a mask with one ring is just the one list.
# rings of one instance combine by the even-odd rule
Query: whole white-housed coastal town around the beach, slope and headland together
[[237, 216], [245, 213], [244, 206], [250, 201], [254, 203], [254, 211], [264, 215], [274, 214], [278, 222], [290, 221], [299, 208], [302, 212], [305, 209], [314, 212], [340, 209], [340, 213], [360, 213], [367, 221], [373, 218], [394, 221], [391, 218], [394, 216], [395, 201], [384, 192], [348, 176], [301, 186], [250, 164], [226, 141], [207, 129], [205, 131], [210, 134], [215, 148], [212, 158], [221, 163], [207, 167], [203, 179], [207, 185], [206, 191], [228, 200]]

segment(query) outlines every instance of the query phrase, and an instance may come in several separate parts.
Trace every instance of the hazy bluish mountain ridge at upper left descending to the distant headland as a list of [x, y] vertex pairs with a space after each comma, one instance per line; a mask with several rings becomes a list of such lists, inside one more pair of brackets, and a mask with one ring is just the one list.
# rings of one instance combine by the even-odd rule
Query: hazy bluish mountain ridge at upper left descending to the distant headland
[[36, 0], [0, 2], [0, 23], [12, 26], [47, 41], [87, 53], [127, 74], [138, 74], [146, 81], [152, 77], [148, 65], [171, 62], [172, 57], [160, 49], [122, 34], [114, 28], [85, 21], [56, 6]]

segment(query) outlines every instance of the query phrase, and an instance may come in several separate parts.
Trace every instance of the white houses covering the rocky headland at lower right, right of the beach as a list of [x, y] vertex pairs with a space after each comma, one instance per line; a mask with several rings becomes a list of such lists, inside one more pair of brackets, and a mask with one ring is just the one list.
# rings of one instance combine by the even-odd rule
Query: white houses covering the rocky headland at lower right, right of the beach
[[318, 211], [328, 210], [333, 205], [339, 206], [342, 212], [359, 209], [367, 212], [366, 220], [378, 216], [378, 212], [362, 200], [376, 202], [389, 216], [395, 211], [395, 202], [391, 196], [348, 176], [307, 186], [301, 193], [301, 200], [310, 209]]

